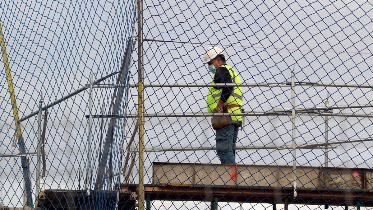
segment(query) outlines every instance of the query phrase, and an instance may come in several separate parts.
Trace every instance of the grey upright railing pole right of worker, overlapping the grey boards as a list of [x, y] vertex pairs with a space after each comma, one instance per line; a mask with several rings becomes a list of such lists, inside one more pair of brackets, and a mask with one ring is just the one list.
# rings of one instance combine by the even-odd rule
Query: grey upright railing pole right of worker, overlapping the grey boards
[[294, 197], [297, 197], [297, 144], [295, 143], [295, 78], [294, 78], [294, 69], [291, 71], [291, 121], [292, 121], [292, 139], [293, 139], [293, 187], [294, 187]]

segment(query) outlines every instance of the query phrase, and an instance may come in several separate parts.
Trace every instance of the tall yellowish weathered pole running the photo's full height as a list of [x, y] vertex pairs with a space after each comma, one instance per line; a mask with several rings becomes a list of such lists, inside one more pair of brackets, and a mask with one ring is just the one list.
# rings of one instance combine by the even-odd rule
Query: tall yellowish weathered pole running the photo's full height
[[138, 112], [139, 112], [139, 210], [144, 210], [144, 70], [142, 52], [142, 0], [137, 1], [137, 41], [138, 41]]

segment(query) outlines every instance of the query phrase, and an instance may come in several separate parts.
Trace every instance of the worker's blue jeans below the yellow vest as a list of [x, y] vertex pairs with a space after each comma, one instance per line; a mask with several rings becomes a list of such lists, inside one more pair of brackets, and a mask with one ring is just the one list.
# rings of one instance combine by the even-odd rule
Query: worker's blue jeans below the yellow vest
[[241, 121], [216, 130], [216, 153], [221, 163], [236, 164], [236, 140]]

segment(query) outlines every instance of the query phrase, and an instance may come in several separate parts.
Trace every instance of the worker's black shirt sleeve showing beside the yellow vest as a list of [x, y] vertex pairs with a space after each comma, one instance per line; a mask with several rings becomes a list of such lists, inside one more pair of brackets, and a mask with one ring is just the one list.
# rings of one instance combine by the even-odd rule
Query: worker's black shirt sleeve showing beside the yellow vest
[[[214, 83], [233, 83], [231, 74], [229, 74], [229, 70], [225, 67], [217, 67], [214, 76]], [[226, 102], [229, 96], [231, 96], [233, 87], [223, 86], [216, 87], [216, 89], [222, 89], [222, 96], [220, 97], [220, 99], [223, 102]]]

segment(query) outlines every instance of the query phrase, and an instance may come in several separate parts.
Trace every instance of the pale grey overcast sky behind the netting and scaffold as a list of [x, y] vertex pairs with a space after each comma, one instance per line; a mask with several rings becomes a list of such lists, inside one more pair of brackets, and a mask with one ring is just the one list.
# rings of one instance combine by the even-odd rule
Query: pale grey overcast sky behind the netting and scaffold
[[[224, 50], [228, 55], [227, 63], [240, 73], [241, 80], [246, 83], [291, 81], [290, 69], [294, 65], [295, 81], [373, 83], [372, 1], [244, 2], [144, 0], [144, 38], [242, 46], [224, 46]], [[43, 103], [47, 104], [87, 83], [91, 72], [98, 72], [97, 78], [100, 78], [101, 75], [118, 71], [127, 38], [132, 33], [131, 2], [82, 3], [76, 0], [44, 4], [34, 1], [0, 3], [0, 9], [4, 11], [0, 17], [21, 115], [37, 109], [40, 90], [44, 93]], [[48, 10], [49, 7], [53, 9]], [[40, 21], [33, 22], [32, 19]], [[200, 44], [144, 42], [145, 83], [209, 83], [211, 74], [201, 59], [207, 47]], [[310, 49], [313, 51], [310, 52]], [[133, 57], [130, 83], [137, 82], [135, 53]], [[113, 81], [114, 78], [106, 83]], [[1, 104], [6, 111], [1, 114], [0, 136], [4, 141], [0, 145], [0, 153], [10, 153], [9, 142], [14, 123], [4, 74], [1, 84]], [[289, 88], [244, 87], [243, 90], [246, 111], [291, 107]], [[327, 91], [330, 93], [330, 106], [365, 105], [372, 104], [373, 100], [372, 89], [297, 86], [297, 107], [324, 106]], [[206, 92], [207, 88], [147, 88], [145, 108], [148, 113], [206, 112]], [[130, 94], [128, 112], [136, 113], [137, 90], [130, 89]], [[111, 97], [112, 90], [97, 90], [94, 102], [97, 114], [102, 110], [107, 114], [105, 111]], [[84, 115], [88, 114], [87, 99], [88, 93], [85, 92], [48, 110], [46, 188], [76, 189], [78, 167], [85, 174], [87, 155], [84, 149], [88, 134]], [[373, 114], [373, 108], [344, 109], [342, 112]], [[147, 119], [145, 147], [214, 146], [214, 132], [209, 120]], [[287, 116], [246, 117], [244, 130], [239, 132], [238, 145], [291, 144], [290, 120]], [[117, 148], [123, 120], [119, 122], [114, 146], [116, 154], [119, 152]], [[99, 139], [100, 121], [94, 120], [94, 123], [94, 139]], [[298, 144], [325, 140], [322, 117], [302, 115], [296, 118], [296, 124]], [[34, 151], [36, 135], [32, 133], [35, 131], [32, 128], [37, 127], [35, 117], [22, 125], [26, 145], [30, 151]], [[131, 133], [133, 119], [129, 119], [127, 125], [126, 132]], [[332, 117], [329, 127], [329, 140], [332, 141], [368, 138], [373, 133], [372, 120], [369, 118]], [[138, 142], [138, 138], [135, 142]], [[372, 168], [372, 146], [372, 142], [338, 145], [336, 149], [329, 150], [329, 166]], [[92, 148], [98, 148], [97, 141]], [[289, 165], [292, 163], [291, 152], [239, 151], [236, 161], [238, 164]], [[118, 164], [119, 155], [113, 159]], [[95, 150], [95, 166], [97, 161]], [[219, 163], [215, 151], [148, 153], [145, 183], [151, 183], [151, 163], [167, 161]], [[36, 158], [32, 158], [32, 171], [35, 163]], [[319, 167], [323, 163], [322, 149], [297, 150], [298, 166]], [[5, 206], [20, 205], [18, 198], [21, 188], [14, 174], [19, 170], [20, 160], [17, 167], [13, 167], [13, 164], [14, 158], [0, 160], [1, 169], [4, 170], [0, 177], [5, 180], [0, 182], [0, 199]], [[93, 170], [95, 173], [97, 168]], [[137, 169], [134, 174], [137, 174]], [[35, 171], [33, 175], [35, 177]], [[154, 205], [168, 209], [170, 203], [163, 202], [164, 206], [161, 203], [157, 201]], [[259, 204], [254, 208], [260, 209], [261, 206]], [[179, 207], [208, 208], [204, 203], [186, 203], [182, 206], [182, 203], [176, 202], [171, 206], [175, 209]], [[222, 208], [232, 209], [236, 206], [229, 204]], [[301, 207], [304, 208], [317, 207]]]

